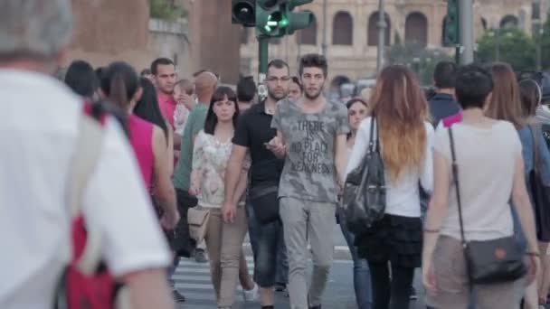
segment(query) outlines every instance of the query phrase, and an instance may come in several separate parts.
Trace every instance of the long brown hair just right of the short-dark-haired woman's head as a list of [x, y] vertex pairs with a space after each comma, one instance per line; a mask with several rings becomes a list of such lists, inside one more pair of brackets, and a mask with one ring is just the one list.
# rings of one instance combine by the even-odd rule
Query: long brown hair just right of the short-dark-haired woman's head
[[485, 109], [485, 115], [498, 120], [507, 120], [517, 129], [525, 125], [522, 117], [519, 87], [516, 73], [507, 63], [494, 63], [490, 67], [495, 87]]

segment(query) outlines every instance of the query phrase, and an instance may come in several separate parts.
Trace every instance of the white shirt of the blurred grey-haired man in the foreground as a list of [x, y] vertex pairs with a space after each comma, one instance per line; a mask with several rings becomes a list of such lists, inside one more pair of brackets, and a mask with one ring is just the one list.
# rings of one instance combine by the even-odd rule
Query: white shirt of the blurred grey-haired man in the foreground
[[[0, 308], [50, 308], [70, 258], [64, 201], [81, 98], [43, 74], [0, 70]], [[109, 119], [82, 211], [115, 276], [170, 256], [126, 136]]]

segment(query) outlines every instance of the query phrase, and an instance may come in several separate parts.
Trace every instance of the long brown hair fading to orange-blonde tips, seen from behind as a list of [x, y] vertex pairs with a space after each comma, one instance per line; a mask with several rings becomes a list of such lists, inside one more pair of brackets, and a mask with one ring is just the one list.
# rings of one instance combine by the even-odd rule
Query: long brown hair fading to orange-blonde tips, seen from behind
[[428, 103], [412, 71], [403, 65], [382, 70], [369, 102], [379, 127], [386, 170], [397, 180], [403, 170], [422, 164]]

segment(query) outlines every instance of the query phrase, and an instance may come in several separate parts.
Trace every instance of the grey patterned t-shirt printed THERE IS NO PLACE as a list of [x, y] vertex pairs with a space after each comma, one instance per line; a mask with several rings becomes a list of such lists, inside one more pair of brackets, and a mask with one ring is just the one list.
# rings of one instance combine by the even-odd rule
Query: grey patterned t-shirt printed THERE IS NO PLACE
[[282, 133], [287, 156], [280, 179], [280, 197], [336, 202], [336, 137], [349, 132], [346, 107], [329, 102], [317, 113], [304, 113], [283, 99], [271, 126]]

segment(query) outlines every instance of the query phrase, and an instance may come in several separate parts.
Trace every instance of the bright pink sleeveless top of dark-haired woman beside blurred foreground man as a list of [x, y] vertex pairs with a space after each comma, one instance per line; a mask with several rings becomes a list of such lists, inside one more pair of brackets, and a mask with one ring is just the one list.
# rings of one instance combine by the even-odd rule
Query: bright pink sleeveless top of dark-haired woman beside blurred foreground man
[[147, 189], [151, 188], [153, 164], [155, 164], [155, 156], [153, 155], [153, 127], [153, 124], [135, 115], [130, 115], [128, 119], [130, 145], [134, 149], [137, 164], [139, 164], [139, 170], [147, 185]]

